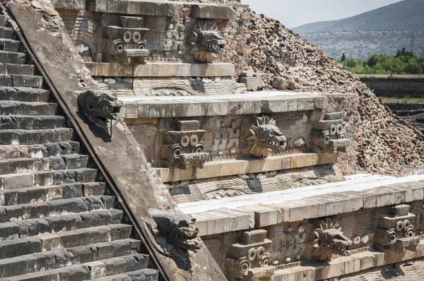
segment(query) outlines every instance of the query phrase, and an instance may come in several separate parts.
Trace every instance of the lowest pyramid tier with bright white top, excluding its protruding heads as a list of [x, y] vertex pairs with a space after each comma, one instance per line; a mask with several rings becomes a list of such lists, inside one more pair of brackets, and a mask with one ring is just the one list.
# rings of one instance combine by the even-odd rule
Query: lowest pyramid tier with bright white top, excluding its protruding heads
[[[228, 249], [234, 243], [233, 237], [249, 229], [266, 230], [272, 241], [269, 263], [275, 266], [273, 280], [326, 280], [382, 265], [400, 266], [422, 257], [424, 175], [394, 178], [364, 174], [346, 179], [295, 190], [183, 203], [179, 208], [196, 218], [201, 237], [218, 263], [223, 261], [220, 258], [225, 251], [218, 249]], [[419, 214], [413, 226], [416, 244], [406, 251], [382, 251], [376, 241], [386, 230], [379, 229], [382, 226], [377, 227], [376, 222], [396, 222], [396, 217], [387, 214], [401, 206]], [[350, 249], [334, 254], [331, 261], [306, 261], [302, 255], [308, 257], [312, 244], [306, 232], [324, 223], [323, 217], [333, 217], [342, 237], [353, 242]]]

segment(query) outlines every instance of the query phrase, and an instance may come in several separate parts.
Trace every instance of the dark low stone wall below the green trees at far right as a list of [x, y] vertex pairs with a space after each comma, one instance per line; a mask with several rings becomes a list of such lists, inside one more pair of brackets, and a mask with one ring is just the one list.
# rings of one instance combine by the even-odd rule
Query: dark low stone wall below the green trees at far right
[[381, 97], [423, 97], [424, 78], [361, 78]]

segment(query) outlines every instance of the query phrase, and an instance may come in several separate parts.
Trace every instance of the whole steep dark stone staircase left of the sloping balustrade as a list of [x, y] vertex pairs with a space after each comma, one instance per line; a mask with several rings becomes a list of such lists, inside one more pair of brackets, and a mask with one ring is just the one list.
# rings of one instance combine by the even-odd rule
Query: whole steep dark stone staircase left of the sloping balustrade
[[0, 16], [0, 280], [158, 280]]

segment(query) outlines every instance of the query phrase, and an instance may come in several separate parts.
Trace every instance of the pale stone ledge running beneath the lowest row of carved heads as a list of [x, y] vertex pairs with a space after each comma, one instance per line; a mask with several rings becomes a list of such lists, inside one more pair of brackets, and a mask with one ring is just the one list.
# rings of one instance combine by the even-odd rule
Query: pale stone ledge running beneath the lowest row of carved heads
[[424, 241], [421, 240], [415, 252], [406, 251], [404, 254], [399, 254], [393, 251], [388, 251], [387, 253], [365, 251], [362, 253], [355, 253], [352, 256], [334, 258], [334, 260], [328, 263], [315, 263], [310, 266], [298, 266], [277, 270], [274, 275], [274, 281], [326, 280], [351, 273], [358, 273], [369, 268], [377, 268], [383, 265], [409, 261], [414, 258], [422, 258], [423, 256]]

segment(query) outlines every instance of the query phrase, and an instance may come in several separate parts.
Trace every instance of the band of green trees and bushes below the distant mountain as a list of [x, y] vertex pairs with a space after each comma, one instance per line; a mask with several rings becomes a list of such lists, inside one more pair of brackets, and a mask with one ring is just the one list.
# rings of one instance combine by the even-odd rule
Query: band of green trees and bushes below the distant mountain
[[367, 59], [350, 58], [343, 54], [338, 62], [351, 73], [357, 74], [418, 74], [424, 71], [424, 49], [416, 55], [404, 47], [394, 56], [372, 54]]

